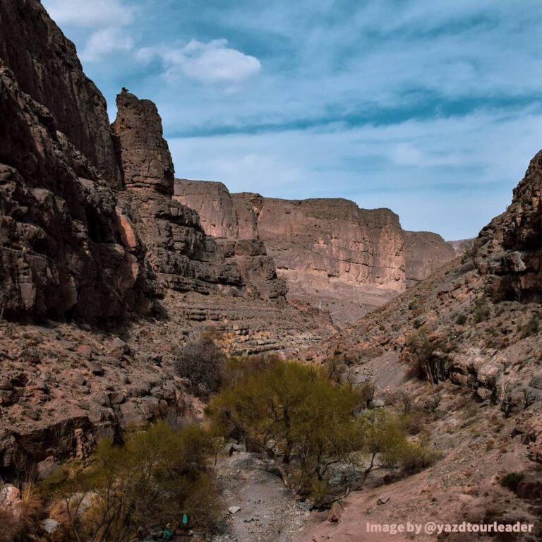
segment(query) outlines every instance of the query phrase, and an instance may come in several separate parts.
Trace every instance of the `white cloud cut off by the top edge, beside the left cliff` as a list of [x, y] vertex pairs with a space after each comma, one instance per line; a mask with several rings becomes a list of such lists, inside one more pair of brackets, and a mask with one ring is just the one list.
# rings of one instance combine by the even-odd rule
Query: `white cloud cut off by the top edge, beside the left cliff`
[[83, 28], [125, 26], [133, 20], [133, 8], [120, 0], [43, 0], [59, 25]]

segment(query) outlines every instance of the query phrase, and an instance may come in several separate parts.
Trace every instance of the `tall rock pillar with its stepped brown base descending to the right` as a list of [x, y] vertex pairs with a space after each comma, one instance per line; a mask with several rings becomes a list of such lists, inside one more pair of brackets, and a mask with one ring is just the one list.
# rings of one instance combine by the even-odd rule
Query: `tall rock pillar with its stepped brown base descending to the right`
[[[142, 241], [155, 291], [167, 287], [284, 299], [284, 285], [262, 243], [219, 244], [212, 235], [220, 231], [210, 226], [204, 231], [198, 213], [183, 205], [179, 195], [172, 198], [173, 163], [155, 104], [128, 92], [116, 102], [113, 129], [126, 186], [120, 198], [133, 218], [132, 223], [120, 215], [121, 239], [130, 248], [136, 237]], [[178, 192], [179, 183], [175, 186]]]

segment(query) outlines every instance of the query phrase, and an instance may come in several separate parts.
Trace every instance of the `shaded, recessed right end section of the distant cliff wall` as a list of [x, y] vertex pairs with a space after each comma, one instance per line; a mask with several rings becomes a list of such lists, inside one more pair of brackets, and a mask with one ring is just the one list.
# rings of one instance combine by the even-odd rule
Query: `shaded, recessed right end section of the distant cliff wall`
[[454, 247], [430, 231], [404, 231], [406, 287], [414, 286], [456, 256]]

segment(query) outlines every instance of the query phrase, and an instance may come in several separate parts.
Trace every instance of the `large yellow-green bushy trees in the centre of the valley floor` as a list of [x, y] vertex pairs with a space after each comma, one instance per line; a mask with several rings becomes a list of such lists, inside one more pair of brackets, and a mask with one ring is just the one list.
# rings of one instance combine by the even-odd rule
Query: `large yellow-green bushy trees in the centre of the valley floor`
[[275, 361], [239, 369], [207, 414], [217, 434], [241, 435], [267, 453], [291, 490], [322, 505], [338, 465], [363, 483], [378, 456], [397, 465], [409, 450], [397, 417], [365, 407], [363, 393], [330, 380], [326, 368]]

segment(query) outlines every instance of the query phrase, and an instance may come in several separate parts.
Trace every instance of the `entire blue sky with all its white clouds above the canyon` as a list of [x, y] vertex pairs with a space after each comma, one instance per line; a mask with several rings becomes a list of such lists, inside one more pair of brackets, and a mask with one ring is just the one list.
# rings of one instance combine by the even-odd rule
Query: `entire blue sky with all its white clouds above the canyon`
[[42, 0], [176, 176], [475, 236], [542, 147], [540, 0]]

